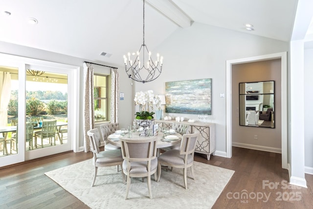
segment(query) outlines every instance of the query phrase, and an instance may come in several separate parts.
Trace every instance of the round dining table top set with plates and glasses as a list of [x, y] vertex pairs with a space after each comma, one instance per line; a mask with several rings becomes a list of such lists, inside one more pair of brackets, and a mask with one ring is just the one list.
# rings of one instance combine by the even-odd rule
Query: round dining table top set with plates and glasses
[[125, 134], [124, 136], [120, 135], [120, 137], [117, 137], [116, 134], [111, 134], [108, 136], [108, 142], [115, 145], [115, 146], [121, 147], [119, 139], [141, 140], [141, 139], [157, 138], [156, 148], [164, 148], [164, 147], [173, 146], [175, 144], [179, 144], [181, 141], [181, 137], [182, 137], [179, 133], [174, 133], [174, 134], [170, 134], [167, 136], [177, 136], [179, 139], [167, 140], [167, 139], [163, 138], [163, 133], [158, 133], [158, 135], [152, 136], [152, 137], [140, 137], [139, 134], [140, 134], [140, 132], [132, 132], [132, 138], [129, 138], [128, 134]]

